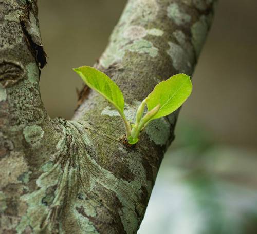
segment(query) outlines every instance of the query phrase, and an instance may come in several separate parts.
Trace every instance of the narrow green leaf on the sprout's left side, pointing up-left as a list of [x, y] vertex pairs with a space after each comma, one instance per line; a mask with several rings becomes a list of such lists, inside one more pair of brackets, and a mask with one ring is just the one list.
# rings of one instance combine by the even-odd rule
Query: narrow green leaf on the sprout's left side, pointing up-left
[[124, 117], [124, 97], [119, 87], [103, 72], [89, 66], [74, 68], [83, 81], [91, 89], [96, 90], [105, 97], [115, 108], [120, 115]]

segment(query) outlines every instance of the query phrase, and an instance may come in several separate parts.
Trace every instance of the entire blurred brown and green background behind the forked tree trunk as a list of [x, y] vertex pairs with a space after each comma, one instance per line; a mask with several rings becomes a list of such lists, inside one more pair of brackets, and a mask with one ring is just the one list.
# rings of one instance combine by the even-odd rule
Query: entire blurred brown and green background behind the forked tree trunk
[[[70, 119], [82, 82], [124, 0], [39, 1], [48, 65], [41, 96], [50, 116]], [[257, 233], [257, 2], [219, 1], [139, 234]]]

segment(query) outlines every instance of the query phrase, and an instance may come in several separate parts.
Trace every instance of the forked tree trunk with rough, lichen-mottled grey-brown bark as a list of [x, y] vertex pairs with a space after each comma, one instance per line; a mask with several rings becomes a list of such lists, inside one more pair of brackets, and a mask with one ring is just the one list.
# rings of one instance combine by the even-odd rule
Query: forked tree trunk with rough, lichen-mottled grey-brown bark
[[[129, 120], [158, 82], [192, 74], [213, 5], [128, 1], [95, 66], [123, 91]], [[81, 95], [74, 119], [51, 120], [36, 15], [36, 0], [0, 0], [0, 232], [136, 233], [178, 112], [153, 121], [135, 147], [120, 140], [122, 120], [96, 92]]]

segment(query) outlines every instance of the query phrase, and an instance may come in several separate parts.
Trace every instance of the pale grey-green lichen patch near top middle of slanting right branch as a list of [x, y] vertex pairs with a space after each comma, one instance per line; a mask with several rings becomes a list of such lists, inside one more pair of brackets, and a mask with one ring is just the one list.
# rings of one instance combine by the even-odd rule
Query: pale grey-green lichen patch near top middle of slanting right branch
[[179, 26], [185, 25], [191, 21], [191, 16], [183, 11], [177, 3], [172, 3], [168, 6], [167, 15]]

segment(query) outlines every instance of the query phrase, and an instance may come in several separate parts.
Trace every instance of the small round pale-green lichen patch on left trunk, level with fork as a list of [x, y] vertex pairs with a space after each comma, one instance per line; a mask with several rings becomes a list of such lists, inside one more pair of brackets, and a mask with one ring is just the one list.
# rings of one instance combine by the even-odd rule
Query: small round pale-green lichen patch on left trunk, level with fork
[[28, 144], [37, 146], [44, 136], [44, 131], [38, 125], [26, 126], [23, 130], [23, 135]]

